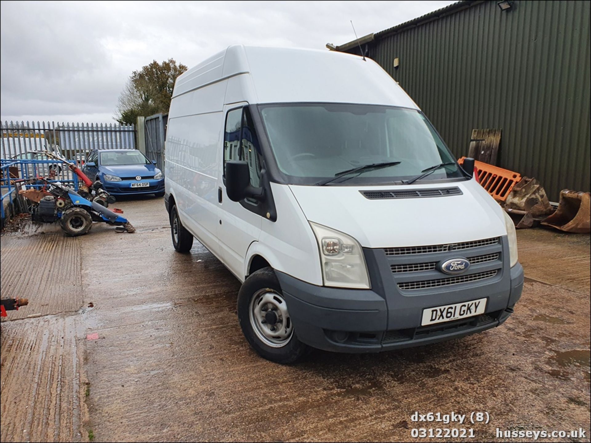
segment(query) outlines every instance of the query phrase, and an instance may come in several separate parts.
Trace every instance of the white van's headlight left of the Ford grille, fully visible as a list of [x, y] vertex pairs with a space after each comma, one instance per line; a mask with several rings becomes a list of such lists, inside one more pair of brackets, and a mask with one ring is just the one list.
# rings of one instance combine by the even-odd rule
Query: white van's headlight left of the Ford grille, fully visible
[[359, 242], [343, 232], [310, 222], [320, 250], [324, 286], [369, 289], [368, 268]]

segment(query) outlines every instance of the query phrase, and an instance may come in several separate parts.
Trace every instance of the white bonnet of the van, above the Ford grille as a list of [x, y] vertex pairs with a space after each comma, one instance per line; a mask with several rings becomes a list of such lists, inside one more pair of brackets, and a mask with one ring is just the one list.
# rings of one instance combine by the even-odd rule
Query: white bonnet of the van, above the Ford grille
[[[362, 247], [440, 245], [506, 235], [501, 206], [491, 196], [483, 196], [482, 186], [474, 179], [431, 185], [413, 183], [412, 188], [452, 186], [462, 189], [463, 194], [370, 200], [359, 191], [404, 190], [408, 186], [290, 185], [290, 188], [309, 221], [345, 232]], [[494, 205], [483, 204], [486, 198]]]

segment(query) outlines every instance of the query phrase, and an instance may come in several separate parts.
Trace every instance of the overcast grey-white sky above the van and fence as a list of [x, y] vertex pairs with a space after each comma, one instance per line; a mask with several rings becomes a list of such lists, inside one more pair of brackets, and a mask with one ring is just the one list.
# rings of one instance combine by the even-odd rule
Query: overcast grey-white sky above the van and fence
[[2, 1], [0, 117], [113, 122], [133, 70], [189, 67], [230, 44], [324, 48], [452, 1]]

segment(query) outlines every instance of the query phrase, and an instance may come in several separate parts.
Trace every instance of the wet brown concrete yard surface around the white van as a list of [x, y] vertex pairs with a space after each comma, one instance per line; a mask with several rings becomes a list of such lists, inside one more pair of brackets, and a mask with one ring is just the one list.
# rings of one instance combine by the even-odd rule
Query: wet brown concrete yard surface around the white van
[[[135, 234], [95, 224], [75, 239], [82, 306], [93, 308], [2, 324], [2, 441], [22, 439], [25, 427], [48, 440], [75, 439], [76, 426], [82, 439], [92, 429], [95, 441], [408, 441], [411, 428], [426, 426], [411, 421], [415, 411], [489, 412], [488, 425], [463, 425], [475, 429], [477, 441], [494, 438], [495, 428], [579, 427], [587, 430], [580, 441], [589, 441], [589, 236], [518, 232], [528, 280], [515, 314], [499, 328], [378, 355], [315, 351], [300, 365], [281, 366], [243, 339], [239, 283], [229, 271], [198, 242], [191, 254], [174, 252], [162, 199], [117, 206]], [[21, 251], [28, 260], [28, 249]], [[77, 377], [69, 376], [85, 399], [80, 416], [84, 408], [89, 414], [79, 424], [60, 421], [59, 438], [43, 428], [44, 408], [4, 424], [14, 409], [28, 409], [30, 400], [17, 393], [30, 399], [40, 392], [34, 375], [17, 383], [19, 370], [51, 362], [40, 344], [30, 346], [35, 360], [15, 345], [30, 340], [31, 324], [57, 318], [75, 320], [66, 329], [85, 353]], [[92, 333], [99, 338], [86, 340]]]

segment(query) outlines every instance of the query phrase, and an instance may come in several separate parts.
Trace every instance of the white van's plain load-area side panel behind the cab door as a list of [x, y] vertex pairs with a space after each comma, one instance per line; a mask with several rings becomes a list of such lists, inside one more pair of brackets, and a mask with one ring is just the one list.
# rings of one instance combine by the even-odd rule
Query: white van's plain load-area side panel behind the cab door
[[183, 225], [210, 251], [217, 241], [217, 180], [226, 81], [175, 97], [167, 128], [165, 186]]

